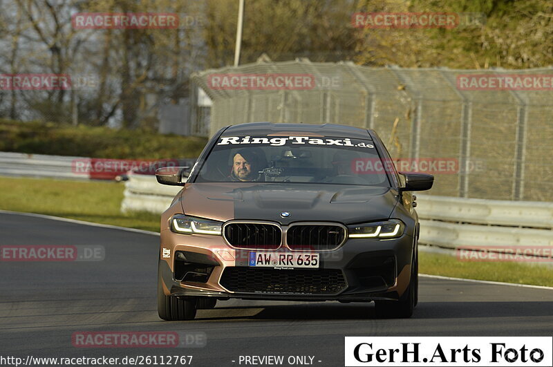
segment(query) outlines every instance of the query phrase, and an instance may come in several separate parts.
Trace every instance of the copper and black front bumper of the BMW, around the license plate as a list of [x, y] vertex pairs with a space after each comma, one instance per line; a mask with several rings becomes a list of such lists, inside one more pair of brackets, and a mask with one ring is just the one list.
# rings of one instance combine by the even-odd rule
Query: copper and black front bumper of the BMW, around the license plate
[[[219, 236], [182, 235], [167, 229], [161, 233], [162, 250], [159, 266], [164, 293], [177, 297], [342, 302], [397, 300], [409, 285], [413, 243], [413, 237], [408, 234], [391, 239], [349, 238], [338, 250], [318, 252], [319, 270], [268, 270], [268, 268], [252, 270], [248, 268], [249, 252], [252, 250], [234, 249]], [[164, 249], [166, 254], [167, 250], [170, 250], [170, 257], [162, 257]], [[194, 272], [194, 266], [191, 266], [187, 267], [187, 270], [191, 270], [187, 273], [189, 275], [182, 279], [184, 276], [182, 266], [178, 263], [178, 259], [175, 260], [175, 254], [179, 253], [184, 254], [187, 261], [195, 262], [194, 265], [198, 265], [198, 268], [207, 268], [207, 276], [204, 279], [201, 276], [195, 277], [191, 274]], [[231, 267], [238, 268], [231, 269]], [[301, 278], [302, 281], [317, 279], [319, 283], [324, 283], [325, 278], [321, 280], [317, 274], [323, 274], [326, 270], [328, 272], [332, 270], [333, 273], [337, 270], [343, 276], [343, 286], [332, 288], [331, 292], [310, 292], [306, 291], [305, 287], [290, 292], [282, 288], [278, 291], [263, 290], [259, 284], [261, 281], [271, 279], [267, 277], [266, 272], [271, 272], [271, 276], [277, 276], [277, 278], [280, 274], [287, 274], [285, 278], [292, 279], [290, 281], [292, 285], [294, 276], [299, 276], [298, 279]], [[251, 290], [247, 286], [238, 286], [234, 290], [229, 286], [234, 284], [233, 286], [236, 287], [236, 279], [234, 283], [228, 281], [229, 272], [240, 273], [241, 279], [244, 279], [243, 276], [255, 271], [265, 272], [265, 276], [252, 279], [254, 283], [251, 284], [255, 286], [252, 286]], [[307, 278], [300, 276], [302, 272]], [[311, 274], [315, 274], [315, 277], [309, 277]], [[238, 283], [238, 285], [241, 284]]]

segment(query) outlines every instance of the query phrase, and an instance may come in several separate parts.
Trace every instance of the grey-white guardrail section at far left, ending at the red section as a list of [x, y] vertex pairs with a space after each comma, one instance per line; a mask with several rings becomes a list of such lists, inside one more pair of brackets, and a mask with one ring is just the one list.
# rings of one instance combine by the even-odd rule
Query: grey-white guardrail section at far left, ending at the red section
[[88, 180], [88, 174], [75, 172], [73, 162], [75, 162], [75, 160], [86, 162], [86, 160], [89, 159], [90, 158], [82, 157], [0, 152], [0, 175]]

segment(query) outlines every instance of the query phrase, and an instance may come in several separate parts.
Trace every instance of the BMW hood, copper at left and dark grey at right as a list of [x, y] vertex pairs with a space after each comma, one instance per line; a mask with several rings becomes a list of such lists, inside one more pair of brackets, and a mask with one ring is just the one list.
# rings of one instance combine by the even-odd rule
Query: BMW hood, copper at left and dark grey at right
[[[389, 187], [217, 182], [187, 184], [180, 199], [185, 214], [214, 220], [272, 220], [283, 225], [324, 220], [347, 225], [389, 218], [398, 196]], [[290, 217], [281, 218], [282, 211]]]

